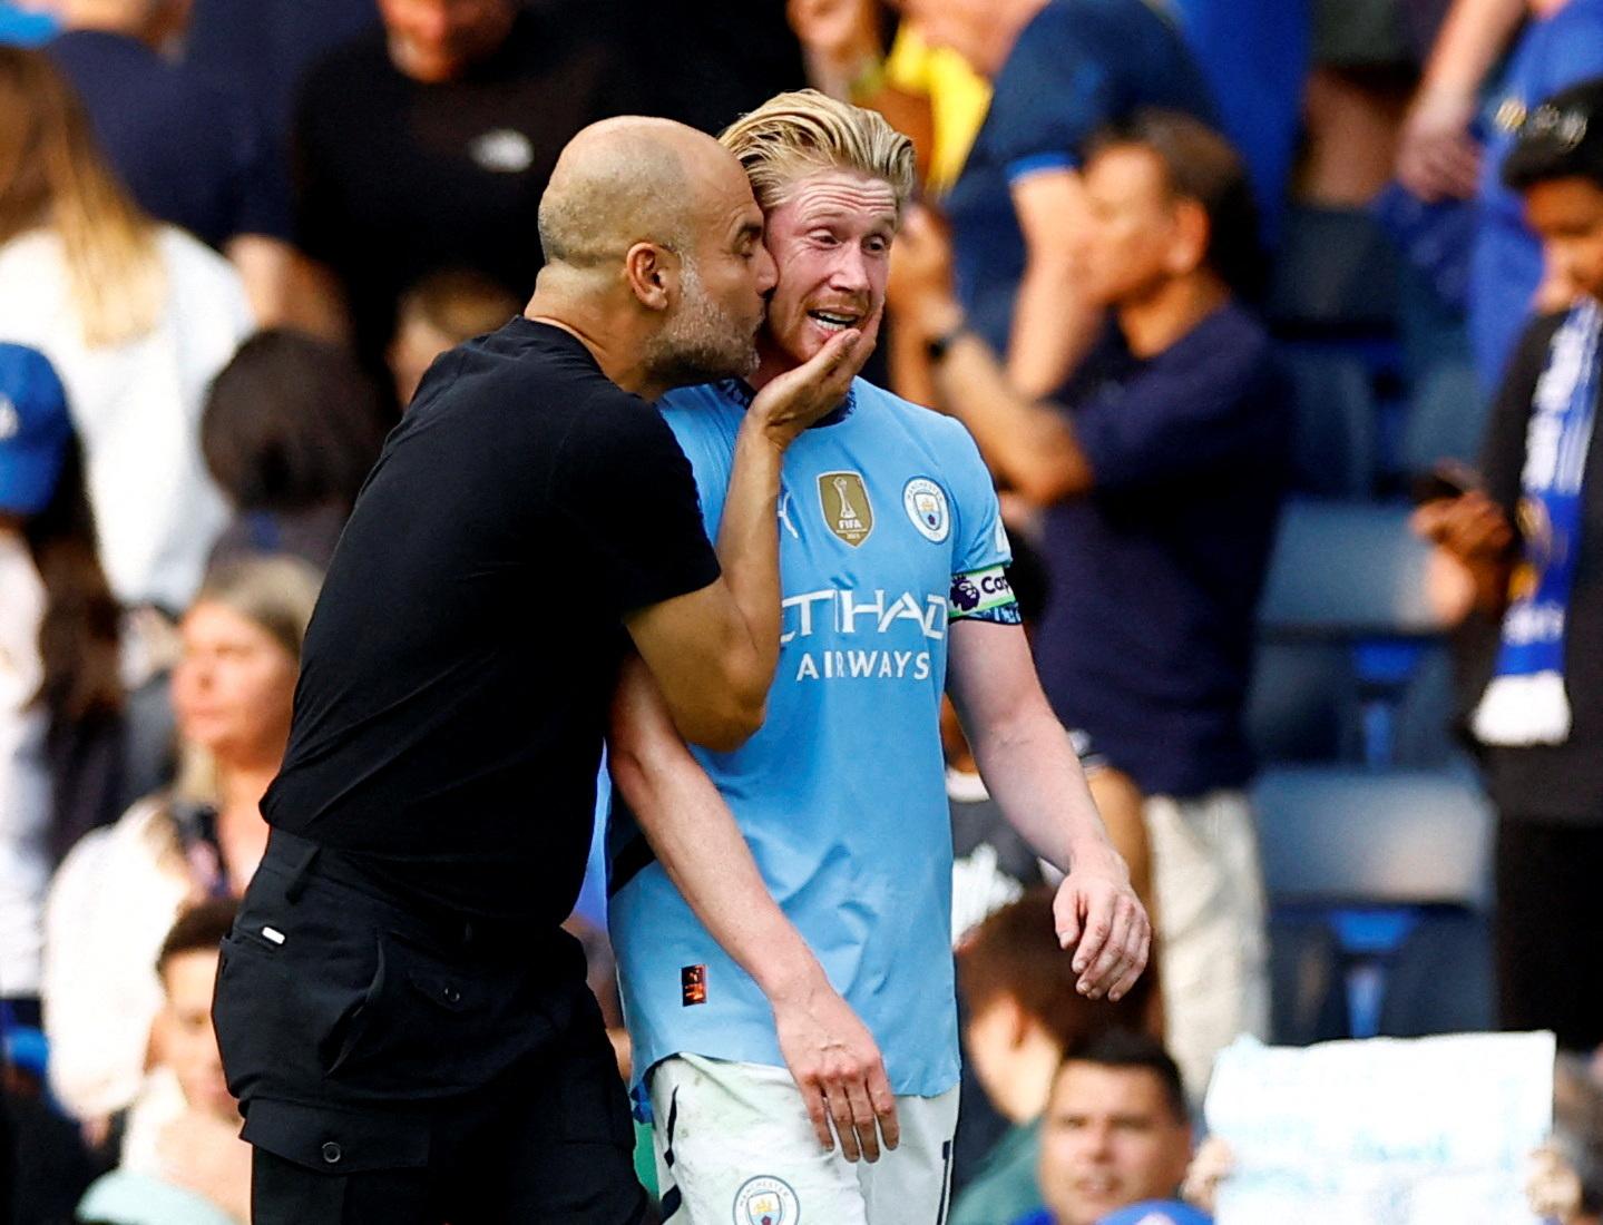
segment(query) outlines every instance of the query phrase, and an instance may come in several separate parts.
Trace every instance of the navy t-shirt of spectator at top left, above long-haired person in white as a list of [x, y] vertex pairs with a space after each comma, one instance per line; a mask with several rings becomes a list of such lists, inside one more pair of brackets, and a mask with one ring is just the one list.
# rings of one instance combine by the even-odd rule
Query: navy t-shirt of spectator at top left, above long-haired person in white
[[218, 249], [239, 234], [290, 236], [277, 146], [242, 91], [122, 34], [69, 30], [46, 50], [151, 216]]

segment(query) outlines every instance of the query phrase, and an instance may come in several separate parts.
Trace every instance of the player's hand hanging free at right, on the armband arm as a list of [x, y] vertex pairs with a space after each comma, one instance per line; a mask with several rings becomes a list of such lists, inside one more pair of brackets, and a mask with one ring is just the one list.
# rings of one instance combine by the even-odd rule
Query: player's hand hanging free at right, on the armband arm
[[1058, 944], [1074, 949], [1076, 989], [1122, 999], [1146, 968], [1153, 924], [1112, 847], [1079, 853], [1052, 903]]

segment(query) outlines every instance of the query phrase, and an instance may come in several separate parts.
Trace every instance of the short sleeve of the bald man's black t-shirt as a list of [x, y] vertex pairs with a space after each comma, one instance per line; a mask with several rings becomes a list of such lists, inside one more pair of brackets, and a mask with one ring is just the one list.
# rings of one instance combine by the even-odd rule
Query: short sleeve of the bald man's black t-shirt
[[553, 499], [614, 616], [718, 577], [689, 460], [656, 409], [620, 396], [585, 412], [556, 457]]

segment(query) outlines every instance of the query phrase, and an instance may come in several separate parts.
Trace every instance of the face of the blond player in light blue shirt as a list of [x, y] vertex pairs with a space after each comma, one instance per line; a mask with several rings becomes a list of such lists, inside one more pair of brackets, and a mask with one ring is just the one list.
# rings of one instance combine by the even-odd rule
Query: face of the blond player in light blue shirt
[[885, 311], [896, 192], [854, 170], [827, 170], [795, 186], [768, 213], [765, 242], [779, 268], [768, 301], [765, 358], [798, 366], [856, 327], [874, 340]]

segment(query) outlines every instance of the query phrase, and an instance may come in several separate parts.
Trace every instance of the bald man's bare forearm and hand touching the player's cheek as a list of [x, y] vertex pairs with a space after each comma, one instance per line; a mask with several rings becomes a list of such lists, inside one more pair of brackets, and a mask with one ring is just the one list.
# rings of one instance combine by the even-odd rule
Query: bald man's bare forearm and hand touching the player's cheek
[[785, 447], [851, 388], [872, 345], [842, 332], [752, 401], [718, 531], [723, 577], [624, 619], [680, 734], [717, 752], [763, 723], [779, 662], [779, 467]]

